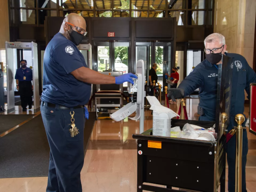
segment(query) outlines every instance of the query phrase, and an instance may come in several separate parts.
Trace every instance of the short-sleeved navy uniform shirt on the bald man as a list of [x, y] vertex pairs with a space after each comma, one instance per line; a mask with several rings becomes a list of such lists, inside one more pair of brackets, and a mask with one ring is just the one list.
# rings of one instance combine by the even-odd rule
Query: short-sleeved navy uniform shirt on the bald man
[[66, 107], [85, 105], [90, 99], [91, 84], [71, 74], [80, 67], [87, 67], [82, 53], [73, 42], [57, 33], [43, 57], [42, 101]]

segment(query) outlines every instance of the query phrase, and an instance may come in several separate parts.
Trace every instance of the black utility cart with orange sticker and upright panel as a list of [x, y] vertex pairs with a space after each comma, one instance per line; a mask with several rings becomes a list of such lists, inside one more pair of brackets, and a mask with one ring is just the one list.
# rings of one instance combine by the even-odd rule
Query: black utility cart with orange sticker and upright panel
[[[231, 59], [223, 56], [218, 69], [216, 121], [172, 119], [171, 127], [186, 123], [204, 128], [213, 127], [217, 139], [201, 141], [185, 138], [159, 137], [152, 135], [152, 128], [142, 134], [133, 134], [138, 139], [137, 191], [178, 191], [183, 189], [217, 192], [225, 191], [226, 127], [229, 122], [231, 93]], [[213, 75], [213, 74], [211, 74]], [[152, 186], [151, 184], [166, 187]]]

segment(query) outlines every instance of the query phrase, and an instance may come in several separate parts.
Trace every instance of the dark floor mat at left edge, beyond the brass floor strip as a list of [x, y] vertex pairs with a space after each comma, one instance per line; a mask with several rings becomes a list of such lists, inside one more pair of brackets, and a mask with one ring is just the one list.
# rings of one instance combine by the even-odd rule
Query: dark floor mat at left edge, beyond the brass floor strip
[[33, 115], [1, 115], [0, 116], [0, 134], [26, 121]]

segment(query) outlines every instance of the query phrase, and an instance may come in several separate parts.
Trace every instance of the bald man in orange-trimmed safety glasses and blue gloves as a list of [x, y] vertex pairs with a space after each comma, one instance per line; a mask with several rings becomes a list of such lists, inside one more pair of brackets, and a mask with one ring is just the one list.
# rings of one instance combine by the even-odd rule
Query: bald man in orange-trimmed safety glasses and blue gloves
[[81, 192], [83, 135], [91, 83], [133, 83], [134, 74], [119, 77], [87, 68], [77, 46], [86, 35], [85, 19], [71, 13], [46, 47], [43, 58], [41, 114], [50, 145], [47, 192]]

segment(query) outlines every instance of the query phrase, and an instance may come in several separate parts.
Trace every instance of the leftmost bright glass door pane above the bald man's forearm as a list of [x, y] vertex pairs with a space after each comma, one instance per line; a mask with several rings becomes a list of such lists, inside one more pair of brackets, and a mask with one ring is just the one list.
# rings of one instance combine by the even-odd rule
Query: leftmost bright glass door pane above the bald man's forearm
[[98, 71], [110, 68], [109, 66], [109, 46], [98, 46]]

